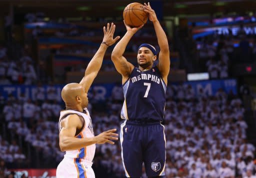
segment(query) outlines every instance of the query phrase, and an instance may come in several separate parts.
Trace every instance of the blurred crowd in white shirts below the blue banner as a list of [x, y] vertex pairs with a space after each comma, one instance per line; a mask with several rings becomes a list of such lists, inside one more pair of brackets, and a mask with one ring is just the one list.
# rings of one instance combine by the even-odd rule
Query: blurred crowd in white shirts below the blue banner
[[[20, 135], [44, 161], [56, 164], [64, 153], [58, 148], [57, 120], [61, 104], [56, 100], [56, 91], [50, 87], [47, 98], [37, 85], [35, 100], [16, 100], [9, 97], [2, 112], [8, 132]], [[88, 109], [95, 135], [112, 128], [118, 129], [123, 122], [119, 114], [123, 95], [120, 85], [115, 85], [112, 95], [98, 111], [93, 91], [88, 94]], [[101, 103], [102, 105], [102, 103]], [[241, 100], [232, 92], [219, 89], [215, 96], [207, 96], [203, 90], [195, 95], [190, 85], [169, 85], [166, 93], [164, 117], [166, 135], [166, 165], [168, 178], [234, 178], [255, 174], [255, 148], [246, 142], [247, 124], [243, 120]], [[0, 142], [5, 163], [26, 159], [13, 141]], [[109, 159], [110, 158], [110, 159]], [[94, 159], [95, 167], [102, 167], [109, 175], [124, 175], [120, 157], [120, 144], [98, 145]], [[100, 173], [98, 173], [100, 174]], [[144, 173], [145, 174], [145, 173]], [[145, 176], [145, 175], [144, 175]]]

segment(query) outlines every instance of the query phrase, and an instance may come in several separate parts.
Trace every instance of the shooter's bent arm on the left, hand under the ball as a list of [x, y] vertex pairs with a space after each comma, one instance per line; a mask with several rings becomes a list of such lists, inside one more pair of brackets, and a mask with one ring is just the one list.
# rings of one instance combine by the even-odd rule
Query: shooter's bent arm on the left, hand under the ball
[[[124, 22], [124, 21], [123, 21]], [[111, 54], [111, 59], [114, 63], [114, 66], [117, 70], [122, 75], [122, 83], [124, 83], [128, 77], [134, 66], [129, 63], [125, 57], [123, 57], [124, 50], [133, 36], [133, 34], [136, 33], [137, 30], [139, 30], [143, 25], [139, 27], [129, 27], [128, 25], [125, 24], [126, 27], [126, 33], [124, 36], [120, 39], [120, 41], [114, 46], [114, 49]]]

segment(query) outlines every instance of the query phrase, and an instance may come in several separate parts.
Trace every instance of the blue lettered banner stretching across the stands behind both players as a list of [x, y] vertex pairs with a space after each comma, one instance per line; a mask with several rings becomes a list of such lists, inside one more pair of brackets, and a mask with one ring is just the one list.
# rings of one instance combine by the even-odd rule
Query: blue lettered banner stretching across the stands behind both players
[[[222, 88], [226, 93], [231, 90], [233, 94], [237, 94], [235, 79], [188, 81], [184, 82], [184, 84], [190, 84], [194, 89], [195, 94], [198, 93], [200, 88], [202, 88], [204, 93], [207, 95], [215, 95], [219, 88]], [[62, 101], [60, 93], [63, 86], [64, 85], [53, 86], [56, 89], [56, 100], [59, 102]], [[92, 85], [89, 90], [88, 97], [89, 99], [93, 98], [93, 100], [96, 101], [104, 101], [111, 96], [111, 92], [114, 86], [114, 83]], [[52, 86], [43, 85], [45, 100], [47, 99], [48, 87]], [[35, 85], [0, 85], [0, 95], [5, 99], [7, 99], [10, 95], [16, 97], [17, 99], [21, 99], [23, 95], [26, 99], [35, 100], [36, 93], [37, 89]]]

